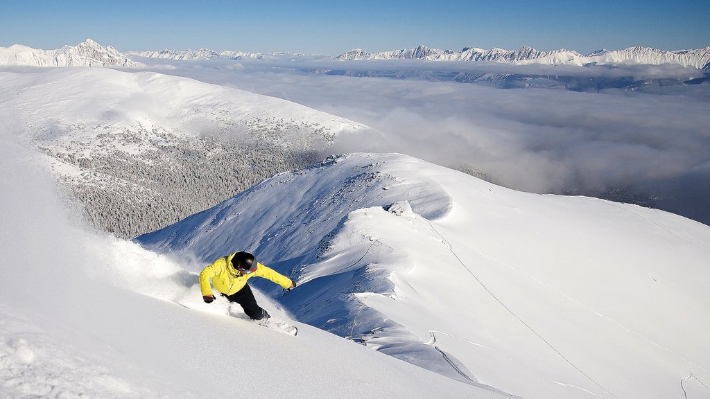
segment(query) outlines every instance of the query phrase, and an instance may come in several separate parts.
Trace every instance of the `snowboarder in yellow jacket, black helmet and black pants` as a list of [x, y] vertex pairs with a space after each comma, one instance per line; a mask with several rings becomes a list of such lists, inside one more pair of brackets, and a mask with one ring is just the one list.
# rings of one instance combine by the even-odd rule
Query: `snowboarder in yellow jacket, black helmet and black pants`
[[256, 304], [256, 298], [254, 298], [249, 284], [246, 283], [246, 280], [254, 276], [268, 278], [286, 290], [291, 290], [296, 286], [290, 278], [255, 261], [251, 253], [237, 251], [217, 259], [202, 269], [202, 273], [200, 273], [202, 299], [207, 303], [214, 300], [212, 288], [209, 285], [211, 278], [214, 288], [217, 288], [229, 302], [239, 303], [249, 318], [266, 321], [271, 316]]

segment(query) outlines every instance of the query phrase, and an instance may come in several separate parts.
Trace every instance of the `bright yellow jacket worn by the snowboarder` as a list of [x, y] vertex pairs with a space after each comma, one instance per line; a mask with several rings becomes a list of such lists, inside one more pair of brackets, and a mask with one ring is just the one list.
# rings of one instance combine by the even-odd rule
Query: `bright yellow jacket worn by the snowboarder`
[[232, 295], [241, 290], [244, 288], [244, 285], [246, 285], [246, 280], [255, 276], [268, 278], [283, 288], [289, 288], [291, 286], [290, 278], [258, 262], [256, 263], [256, 270], [253, 273], [241, 273], [239, 270], [236, 270], [234, 266], [231, 266], [231, 258], [234, 258], [234, 255], [236, 255], [236, 252], [231, 255], [222, 256], [222, 258], [214, 261], [212, 265], [202, 269], [202, 273], [200, 273], [200, 290], [202, 290], [202, 295], [212, 295], [212, 288], [209, 286], [210, 278], [212, 279], [214, 288], [217, 288], [220, 293], [226, 295]]

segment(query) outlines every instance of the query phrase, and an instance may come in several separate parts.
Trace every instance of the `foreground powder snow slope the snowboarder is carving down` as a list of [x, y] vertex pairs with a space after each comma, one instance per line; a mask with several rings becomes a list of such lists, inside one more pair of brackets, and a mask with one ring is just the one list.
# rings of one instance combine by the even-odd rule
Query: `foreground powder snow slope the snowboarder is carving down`
[[197, 310], [165, 300], [199, 301], [195, 275], [72, 222], [9, 124], [0, 120], [0, 398], [508, 397], [306, 325], [298, 337], [264, 329], [224, 315], [222, 300]]

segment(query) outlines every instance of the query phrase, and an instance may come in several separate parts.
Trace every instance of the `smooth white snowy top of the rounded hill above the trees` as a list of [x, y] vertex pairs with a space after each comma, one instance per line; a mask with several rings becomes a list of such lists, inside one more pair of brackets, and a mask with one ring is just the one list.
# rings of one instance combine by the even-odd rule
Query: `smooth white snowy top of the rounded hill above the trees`
[[83, 132], [96, 136], [94, 130], [141, 124], [146, 133], [160, 128], [198, 136], [205, 131], [231, 133], [257, 120], [261, 124], [310, 122], [332, 134], [364, 128], [282, 99], [155, 72], [108, 68], [1, 71], [0, 80], [4, 90], [13, 94], [3, 99], [2, 105], [14, 111], [15, 118], [38, 126], [31, 133], [50, 128], [56, 131], [57, 126], [67, 126], [65, 130], [84, 126], [73, 129], [82, 133], [87, 126], [96, 126]]

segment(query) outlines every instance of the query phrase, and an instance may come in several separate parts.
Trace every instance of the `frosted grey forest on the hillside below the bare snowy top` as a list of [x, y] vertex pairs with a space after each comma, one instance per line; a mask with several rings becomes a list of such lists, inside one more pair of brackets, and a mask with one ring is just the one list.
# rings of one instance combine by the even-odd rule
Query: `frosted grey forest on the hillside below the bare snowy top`
[[[305, 134], [293, 127], [252, 129], [228, 140], [142, 128], [104, 131], [99, 135], [100, 150], [87, 157], [79, 154], [89, 144], [77, 141], [39, 148], [80, 171], [58, 177], [79, 200], [88, 222], [121, 238], [133, 238], [212, 207], [267, 177], [315, 163], [318, 148], [329, 137], [324, 138], [322, 129], [313, 129], [316, 126], [307, 126]], [[273, 140], [278, 131], [280, 143]], [[284, 135], [301, 140], [288, 143]], [[145, 145], [147, 141], [151, 145]]]

